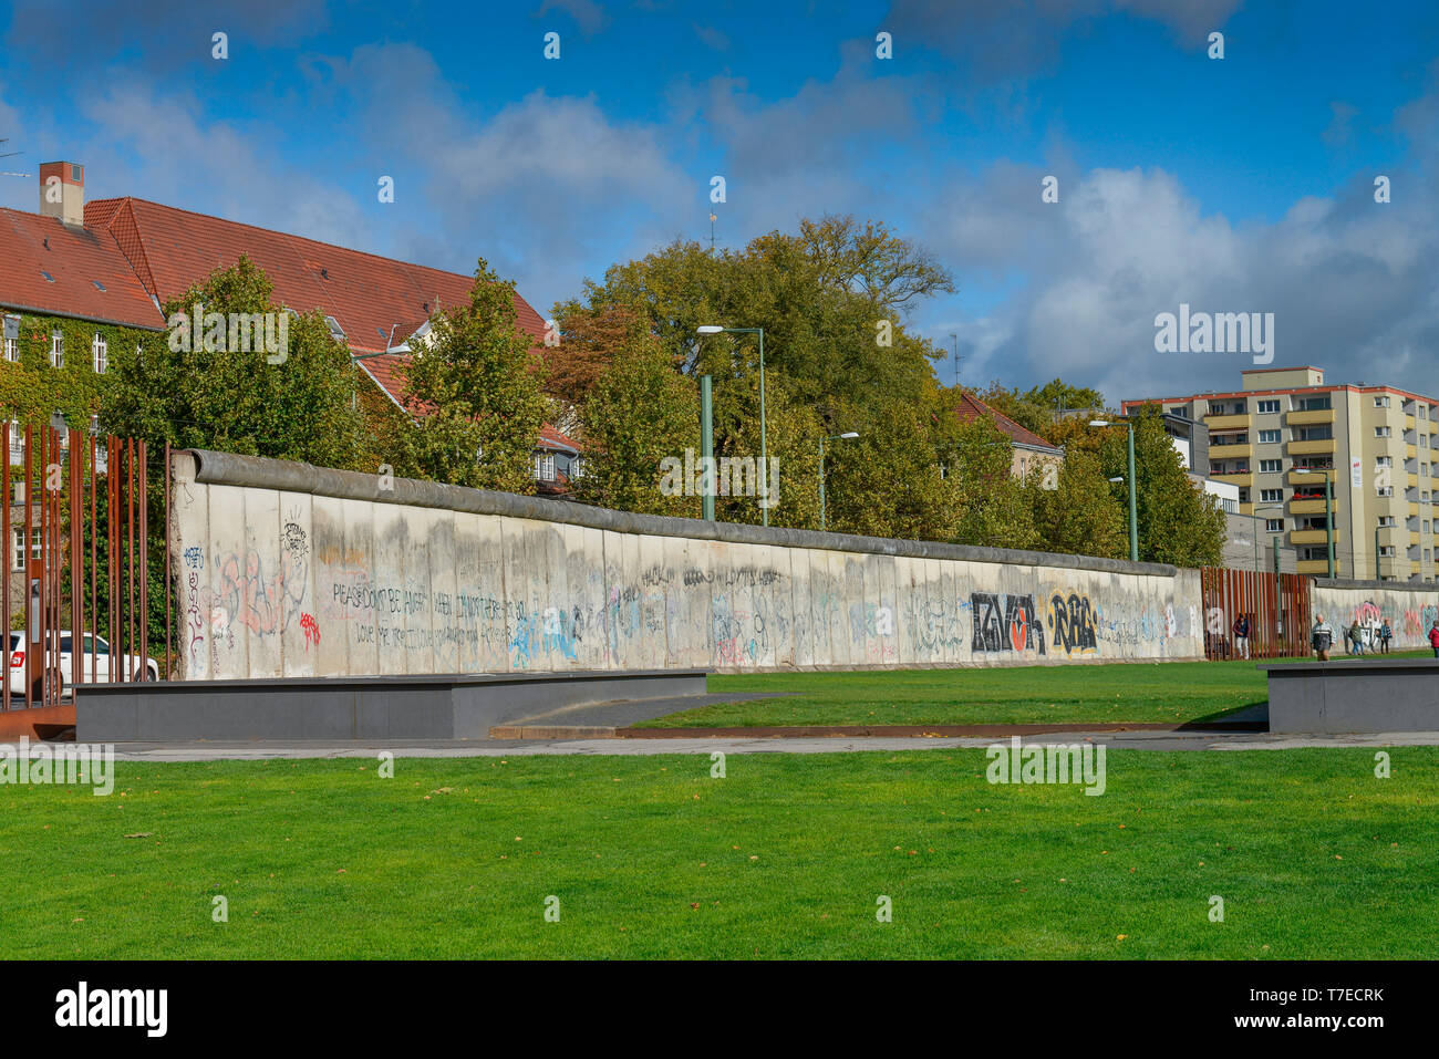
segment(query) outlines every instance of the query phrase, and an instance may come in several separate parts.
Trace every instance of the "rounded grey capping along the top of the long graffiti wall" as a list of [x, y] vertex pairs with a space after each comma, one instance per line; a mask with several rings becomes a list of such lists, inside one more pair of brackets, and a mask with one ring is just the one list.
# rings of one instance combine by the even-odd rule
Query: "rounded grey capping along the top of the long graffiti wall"
[[967, 563], [1003, 563], [1009, 565], [1045, 565], [1069, 570], [1102, 570], [1115, 574], [1148, 574], [1174, 577], [1179, 570], [1163, 563], [1130, 563], [1095, 555], [1059, 555], [1046, 551], [1016, 551], [1010, 548], [979, 548], [967, 544], [938, 544], [934, 541], [899, 541], [886, 537], [852, 537], [849, 534], [816, 530], [781, 530], [744, 525], [740, 522], [705, 522], [695, 518], [665, 515], [635, 515], [627, 511], [594, 508], [573, 501], [544, 496], [519, 496], [491, 489], [466, 489], [442, 482], [416, 482], [394, 478], [393, 489], [380, 486], [378, 475], [354, 471], [317, 468], [262, 456], [237, 456], [209, 449], [174, 452], [176, 481], [201, 485], [232, 485], [250, 489], [279, 489], [338, 499], [371, 501], [374, 504], [404, 504], [416, 508], [443, 508], [479, 515], [507, 515], [543, 522], [591, 527], [623, 534], [652, 537], [681, 537], [730, 544], [768, 544], [787, 548], [820, 548], [872, 555], [902, 555], [909, 558], [944, 558]]

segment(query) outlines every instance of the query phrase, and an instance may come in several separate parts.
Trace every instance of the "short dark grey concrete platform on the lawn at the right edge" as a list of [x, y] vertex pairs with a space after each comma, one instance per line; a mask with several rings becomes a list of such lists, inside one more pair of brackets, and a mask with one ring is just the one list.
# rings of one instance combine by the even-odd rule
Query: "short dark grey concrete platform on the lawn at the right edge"
[[1439, 731], [1439, 659], [1261, 665], [1271, 732]]

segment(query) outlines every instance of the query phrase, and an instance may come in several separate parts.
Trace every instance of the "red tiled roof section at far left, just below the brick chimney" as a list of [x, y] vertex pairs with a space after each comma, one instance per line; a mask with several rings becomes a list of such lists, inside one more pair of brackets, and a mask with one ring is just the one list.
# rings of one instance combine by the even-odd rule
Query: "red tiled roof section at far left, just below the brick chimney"
[[111, 233], [66, 227], [59, 217], [19, 210], [0, 209], [0, 305], [109, 324], [164, 327], [160, 309]]

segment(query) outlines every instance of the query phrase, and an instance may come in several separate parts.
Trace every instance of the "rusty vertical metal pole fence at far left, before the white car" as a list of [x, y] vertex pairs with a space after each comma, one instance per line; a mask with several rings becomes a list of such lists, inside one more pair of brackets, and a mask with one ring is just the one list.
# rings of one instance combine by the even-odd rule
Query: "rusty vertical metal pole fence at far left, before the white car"
[[7, 626], [23, 617], [4, 642], [3, 708], [154, 679], [164, 668], [148, 650], [145, 443], [50, 426], [6, 423], [4, 433], [0, 604]]

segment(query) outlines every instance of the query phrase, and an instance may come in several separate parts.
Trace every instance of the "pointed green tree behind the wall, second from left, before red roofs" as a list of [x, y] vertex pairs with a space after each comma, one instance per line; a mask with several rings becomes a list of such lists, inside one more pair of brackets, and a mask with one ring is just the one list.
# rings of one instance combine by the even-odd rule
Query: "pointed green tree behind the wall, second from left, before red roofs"
[[484, 259], [469, 304], [430, 317], [400, 368], [414, 417], [403, 466], [452, 485], [534, 492], [531, 456], [550, 412], [534, 340], [517, 324], [515, 286]]

